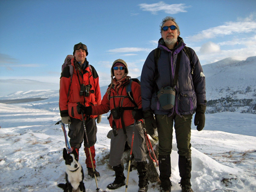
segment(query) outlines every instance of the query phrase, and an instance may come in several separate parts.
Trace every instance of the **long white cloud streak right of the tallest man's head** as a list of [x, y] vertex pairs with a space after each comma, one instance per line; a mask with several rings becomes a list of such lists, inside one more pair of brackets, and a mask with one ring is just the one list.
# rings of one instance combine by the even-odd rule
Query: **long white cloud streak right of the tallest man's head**
[[227, 36], [230, 34], [240, 34], [249, 33], [256, 31], [256, 21], [238, 21], [238, 22], [226, 22], [225, 25], [220, 25], [218, 27], [212, 27], [208, 30], [203, 30], [202, 32], [196, 34], [195, 36], [188, 37], [191, 41], [200, 41], [203, 39], [210, 39], [220, 36]]

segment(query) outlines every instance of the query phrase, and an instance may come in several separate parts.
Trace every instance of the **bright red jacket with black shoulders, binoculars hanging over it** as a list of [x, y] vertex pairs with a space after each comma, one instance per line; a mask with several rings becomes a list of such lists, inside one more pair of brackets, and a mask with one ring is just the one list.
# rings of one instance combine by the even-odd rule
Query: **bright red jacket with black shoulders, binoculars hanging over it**
[[[73, 77], [69, 72], [69, 66], [66, 66], [60, 79], [60, 113], [61, 117], [69, 116], [75, 119], [81, 119], [82, 115], [77, 112], [77, 103], [80, 102], [84, 106], [96, 106], [101, 104], [101, 91], [98, 83], [98, 74], [94, 67], [89, 65], [85, 71], [79, 72], [78, 68], [74, 65], [74, 58], [71, 60], [71, 65], [74, 67]], [[87, 61], [86, 61], [87, 62]], [[81, 74], [80, 74], [81, 73]], [[91, 85], [90, 94], [88, 97], [80, 96], [80, 84]], [[91, 115], [90, 118], [96, 118], [97, 115]]]

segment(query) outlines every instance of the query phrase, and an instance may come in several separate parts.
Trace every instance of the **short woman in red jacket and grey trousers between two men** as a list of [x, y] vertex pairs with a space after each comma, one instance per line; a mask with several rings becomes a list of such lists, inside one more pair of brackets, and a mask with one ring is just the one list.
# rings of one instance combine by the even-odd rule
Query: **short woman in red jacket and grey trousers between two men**
[[121, 159], [126, 141], [131, 145], [133, 125], [135, 124], [132, 152], [139, 173], [138, 191], [143, 192], [148, 190], [148, 179], [144, 132], [141, 121], [138, 121], [143, 117], [141, 85], [131, 82], [135, 103], [131, 102], [126, 92], [126, 85], [130, 83], [130, 77], [127, 74], [126, 62], [121, 59], [115, 60], [111, 67], [112, 81], [101, 104], [90, 107], [80, 106], [80, 110], [87, 115], [100, 115], [111, 111], [109, 124], [113, 129], [113, 134], [110, 142], [109, 165], [113, 166], [115, 180], [107, 186], [108, 189], [117, 189], [125, 185], [124, 165]]

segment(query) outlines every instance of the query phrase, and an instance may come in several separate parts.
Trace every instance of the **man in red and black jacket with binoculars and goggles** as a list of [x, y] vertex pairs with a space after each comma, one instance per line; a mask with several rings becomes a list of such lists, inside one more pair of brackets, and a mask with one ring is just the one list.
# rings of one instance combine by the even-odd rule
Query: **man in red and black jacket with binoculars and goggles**
[[[74, 58], [71, 60], [71, 66], [67, 65], [63, 68], [60, 78], [59, 105], [61, 121], [64, 124], [70, 124], [68, 131], [68, 136], [70, 137], [69, 143], [72, 149], [77, 151], [78, 155], [79, 148], [84, 141], [85, 163], [88, 168], [88, 174], [94, 177], [89, 147], [95, 168], [94, 144], [96, 143], [97, 126], [95, 118], [97, 115], [84, 115], [83, 117], [85, 119], [86, 133], [89, 141], [87, 143], [82, 115], [77, 112], [77, 103], [81, 103], [84, 106], [101, 104], [100, 85], [95, 68], [89, 65], [89, 62], [86, 60], [86, 56], [88, 56], [87, 46], [83, 43], [74, 45], [73, 55]], [[70, 74], [69, 67], [73, 67], [73, 75]], [[98, 177], [100, 173], [95, 170], [95, 175]]]

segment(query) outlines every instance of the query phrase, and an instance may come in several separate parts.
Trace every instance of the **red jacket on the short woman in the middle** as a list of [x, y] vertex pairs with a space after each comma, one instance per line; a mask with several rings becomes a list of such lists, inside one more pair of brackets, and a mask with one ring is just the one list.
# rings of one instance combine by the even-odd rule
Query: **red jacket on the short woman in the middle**
[[[114, 109], [115, 107], [136, 107], [129, 99], [129, 96], [126, 93], [126, 85], [129, 83], [129, 80], [126, 80], [124, 82], [118, 92], [114, 88], [108, 88], [110, 89], [110, 97], [108, 96], [108, 93], [103, 96], [102, 102], [98, 106], [92, 107], [92, 115], [100, 115], [107, 113], [109, 110]], [[137, 104], [138, 108], [142, 108], [142, 101], [141, 101], [141, 85], [139, 85], [136, 82], [132, 82], [131, 84], [131, 90], [133, 94], [133, 98], [135, 100], [135, 103]], [[117, 96], [117, 97], [113, 97]], [[124, 124], [125, 126], [132, 125], [134, 123], [134, 119], [132, 116], [132, 110], [124, 110]], [[112, 121], [113, 117], [112, 114], [109, 117], [109, 124], [112, 127]], [[120, 119], [114, 119], [115, 124], [117, 125], [117, 130], [122, 129], [121, 124], [121, 118]]]

